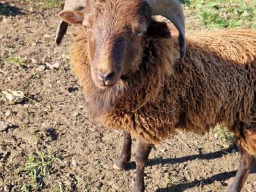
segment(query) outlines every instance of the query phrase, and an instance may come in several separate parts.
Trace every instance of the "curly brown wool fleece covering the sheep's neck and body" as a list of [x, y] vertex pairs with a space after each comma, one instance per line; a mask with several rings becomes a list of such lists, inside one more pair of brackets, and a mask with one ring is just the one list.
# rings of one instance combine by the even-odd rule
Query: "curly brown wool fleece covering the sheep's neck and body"
[[188, 33], [182, 61], [177, 39], [146, 36], [139, 69], [110, 90], [97, 89], [90, 78], [87, 39], [79, 31], [71, 58], [89, 110], [106, 128], [159, 143], [178, 129], [204, 134], [222, 124], [240, 146], [256, 154], [255, 36], [256, 30]]

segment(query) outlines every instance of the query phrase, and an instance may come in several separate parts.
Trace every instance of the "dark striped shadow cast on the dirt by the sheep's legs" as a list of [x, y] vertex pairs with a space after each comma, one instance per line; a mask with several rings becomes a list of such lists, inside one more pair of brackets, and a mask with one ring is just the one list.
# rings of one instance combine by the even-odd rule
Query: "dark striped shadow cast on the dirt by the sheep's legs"
[[[186, 157], [182, 157], [182, 158], [166, 158], [166, 159], [150, 159], [148, 161], [148, 166], [156, 166], [158, 164], [176, 164], [176, 163], [182, 163], [182, 162], [186, 162], [186, 161], [193, 161], [196, 159], [217, 159], [217, 158], [221, 158], [223, 155], [228, 154], [228, 153], [233, 153], [232, 150], [236, 149], [235, 145], [231, 145], [229, 148], [227, 148], [226, 150], [220, 150], [220, 151], [216, 151], [213, 153], [206, 153], [206, 154], [194, 154], [191, 156], [186, 156]], [[127, 165], [127, 170], [131, 170], [131, 169], [135, 169], [136, 168], [136, 164], [135, 162], [130, 162]], [[252, 169], [251, 173], [256, 173], [256, 166], [254, 167], [254, 169]], [[225, 180], [228, 180], [231, 177], [234, 177], [236, 175], [236, 170], [231, 171], [231, 172], [223, 172], [220, 174], [216, 174], [213, 175], [212, 177], [206, 178], [206, 179], [202, 179], [202, 180], [194, 180], [193, 182], [189, 182], [189, 183], [179, 183], [177, 185], [173, 185], [173, 186], [169, 186], [167, 188], [161, 188], [156, 190], [155, 192], [182, 192], [185, 190], [188, 190], [190, 188], [193, 188], [195, 186], [201, 185], [209, 185], [211, 183], [214, 183], [215, 181], [218, 182], [223, 182], [223, 185], [226, 185], [226, 183], [224, 183]]]

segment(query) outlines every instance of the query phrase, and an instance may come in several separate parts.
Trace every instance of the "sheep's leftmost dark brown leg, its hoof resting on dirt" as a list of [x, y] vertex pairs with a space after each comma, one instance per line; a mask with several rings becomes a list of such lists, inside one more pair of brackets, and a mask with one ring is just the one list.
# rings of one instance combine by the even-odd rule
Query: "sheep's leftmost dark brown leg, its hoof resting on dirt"
[[114, 162], [114, 169], [126, 169], [126, 164], [130, 161], [131, 151], [132, 137], [130, 136], [129, 132], [124, 131], [124, 144], [122, 145], [122, 153], [120, 158]]

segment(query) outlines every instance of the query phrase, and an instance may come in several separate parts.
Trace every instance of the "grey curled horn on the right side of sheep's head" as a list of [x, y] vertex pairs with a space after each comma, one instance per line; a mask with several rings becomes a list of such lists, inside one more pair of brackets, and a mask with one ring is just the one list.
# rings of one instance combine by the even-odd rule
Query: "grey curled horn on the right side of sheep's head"
[[185, 22], [182, 6], [178, 0], [148, 0], [151, 8], [151, 15], [161, 15], [174, 23], [180, 35], [180, 58], [186, 53]]

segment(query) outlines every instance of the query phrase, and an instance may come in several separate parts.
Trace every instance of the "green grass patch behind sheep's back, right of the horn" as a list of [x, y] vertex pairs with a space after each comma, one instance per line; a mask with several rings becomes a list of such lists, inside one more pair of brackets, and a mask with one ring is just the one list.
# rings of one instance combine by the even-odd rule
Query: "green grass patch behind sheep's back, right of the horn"
[[256, 28], [256, 1], [189, 0], [185, 6], [200, 15], [204, 28]]

